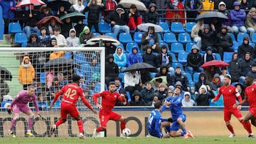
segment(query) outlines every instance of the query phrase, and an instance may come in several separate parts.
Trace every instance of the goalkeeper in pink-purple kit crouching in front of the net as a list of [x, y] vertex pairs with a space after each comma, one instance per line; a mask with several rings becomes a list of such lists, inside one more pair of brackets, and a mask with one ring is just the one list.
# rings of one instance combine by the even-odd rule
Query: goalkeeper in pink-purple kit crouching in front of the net
[[26, 135], [33, 136], [33, 133], [31, 132], [32, 124], [33, 124], [33, 112], [28, 107], [28, 102], [33, 101], [33, 104], [36, 108], [36, 113], [38, 114], [38, 117], [41, 118], [39, 114], [38, 104], [36, 102], [36, 94], [35, 94], [35, 88], [33, 86], [29, 86], [28, 90], [22, 90], [21, 92], [18, 92], [16, 98], [14, 101], [11, 102], [11, 106], [9, 106], [9, 109], [7, 110], [8, 113], [11, 115], [11, 111], [14, 112], [14, 119], [11, 121], [11, 127], [9, 129], [9, 135], [11, 135], [11, 138], [16, 138], [14, 135], [14, 127], [16, 126], [16, 120], [19, 116], [19, 111], [22, 111], [23, 113], [26, 113], [28, 115], [28, 131]]

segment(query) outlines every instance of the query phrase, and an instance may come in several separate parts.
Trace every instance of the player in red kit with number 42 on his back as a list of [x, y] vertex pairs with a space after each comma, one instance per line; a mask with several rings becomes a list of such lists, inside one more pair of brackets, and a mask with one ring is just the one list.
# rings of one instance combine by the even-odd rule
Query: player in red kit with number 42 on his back
[[73, 84], [66, 84], [60, 91], [54, 96], [53, 104], [50, 105], [50, 109], [53, 107], [55, 101], [58, 99], [60, 95], [63, 94], [63, 98], [61, 100], [61, 107], [60, 107], [60, 119], [53, 125], [52, 128], [50, 128], [50, 134], [53, 135], [55, 132], [55, 129], [60, 126], [60, 124], [65, 123], [67, 121], [67, 115], [68, 113], [70, 116], [75, 118], [76, 121], [78, 121], [78, 129], [79, 129], [79, 137], [80, 139], [84, 138], [84, 135], [82, 134], [82, 120], [79, 115], [79, 111], [77, 107], [75, 106], [76, 101], [78, 101], [78, 98], [80, 97], [82, 99], [82, 102], [90, 109], [93, 113], [97, 113], [94, 109], [92, 109], [92, 106], [86, 101], [85, 95], [82, 92], [82, 88], [79, 87], [79, 81], [80, 77], [78, 75], [73, 75]]

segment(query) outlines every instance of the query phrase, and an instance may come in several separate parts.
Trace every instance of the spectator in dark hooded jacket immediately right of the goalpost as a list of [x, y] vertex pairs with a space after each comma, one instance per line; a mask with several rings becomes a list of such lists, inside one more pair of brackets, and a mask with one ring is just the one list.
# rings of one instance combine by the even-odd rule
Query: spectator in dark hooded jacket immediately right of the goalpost
[[107, 56], [107, 62], [105, 64], [105, 83], [108, 85], [118, 77], [119, 68], [114, 63], [114, 56], [112, 54]]

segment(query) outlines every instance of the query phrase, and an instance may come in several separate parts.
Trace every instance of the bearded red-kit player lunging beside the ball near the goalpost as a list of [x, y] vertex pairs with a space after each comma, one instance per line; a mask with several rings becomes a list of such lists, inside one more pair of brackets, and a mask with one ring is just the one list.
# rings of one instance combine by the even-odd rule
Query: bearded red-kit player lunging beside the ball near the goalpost
[[[95, 128], [95, 130], [93, 131], [93, 135], [92, 135], [93, 138], [96, 138], [97, 133], [99, 133], [100, 131], [106, 130], [107, 121], [109, 120], [120, 121], [121, 131], [125, 128], [125, 118], [119, 115], [118, 113], [115, 113], [114, 111], [112, 111], [112, 109], [114, 108], [114, 105], [116, 104], [117, 99], [119, 99], [119, 101], [126, 103], [124, 94], [118, 94], [117, 92], [115, 92], [116, 86], [114, 82], [110, 82], [110, 85], [108, 88], [109, 88], [108, 91], [96, 93], [96, 94], [93, 94], [92, 96], [93, 101], [95, 101], [95, 104], [100, 108], [100, 113], [99, 113], [100, 126], [98, 128]], [[101, 104], [99, 104], [99, 102], [97, 101], [97, 98], [100, 96], [102, 97]], [[123, 138], [128, 138], [128, 137], [124, 137], [124, 135], [122, 134], [121, 136]]]

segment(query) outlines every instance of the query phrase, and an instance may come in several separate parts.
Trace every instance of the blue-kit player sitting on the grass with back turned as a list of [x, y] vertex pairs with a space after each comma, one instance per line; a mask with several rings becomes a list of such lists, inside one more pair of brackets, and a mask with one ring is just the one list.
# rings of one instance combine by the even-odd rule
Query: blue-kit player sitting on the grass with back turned
[[156, 138], [170, 138], [170, 135], [161, 133], [160, 131], [161, 127], [170, 127], [170, 123], [166, 120], [164, 120], [165, 122], [163, 122], [163, 119], [161, 118], [161, 107], [161, 101], [156, 101], [156, 103], [154, 104], [155, 109], [154, 111], [151, 111], [147, 122], [149, 134]]

